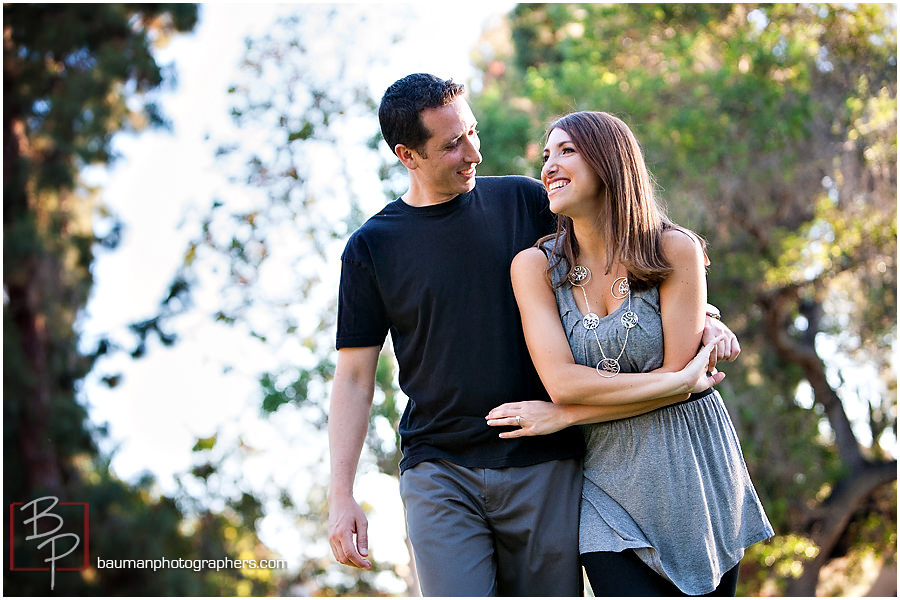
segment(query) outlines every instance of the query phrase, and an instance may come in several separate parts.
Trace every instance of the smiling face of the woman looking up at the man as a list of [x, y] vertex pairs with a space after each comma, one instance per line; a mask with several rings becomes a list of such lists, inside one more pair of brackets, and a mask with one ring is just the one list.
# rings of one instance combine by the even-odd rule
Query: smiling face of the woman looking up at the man
[[554, 213], [572, 218], [596, 216], [603, 197], [600, 177], [562, 129], [554, 129], [547, 137], [541, 181]]

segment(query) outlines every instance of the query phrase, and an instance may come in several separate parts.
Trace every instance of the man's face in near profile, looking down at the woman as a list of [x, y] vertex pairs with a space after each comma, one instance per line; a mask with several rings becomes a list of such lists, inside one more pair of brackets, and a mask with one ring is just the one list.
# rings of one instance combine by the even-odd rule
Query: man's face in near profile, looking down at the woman
[[425, 109], [422, 122], [431, 137], [418, 153], [419, 182], [429, 194], [447, 200], [471, 191], [481, 140], [468, 103], [457, 97], [446, 106]]

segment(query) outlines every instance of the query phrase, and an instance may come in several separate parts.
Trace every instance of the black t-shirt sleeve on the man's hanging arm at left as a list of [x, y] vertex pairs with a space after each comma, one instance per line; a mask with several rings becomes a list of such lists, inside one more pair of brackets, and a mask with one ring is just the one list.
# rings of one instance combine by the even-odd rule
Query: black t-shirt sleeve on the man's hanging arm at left
[[390, 327], [371, 258], [358, 238], [351, 238], [341, 257], [335, 347], [381, 346]]

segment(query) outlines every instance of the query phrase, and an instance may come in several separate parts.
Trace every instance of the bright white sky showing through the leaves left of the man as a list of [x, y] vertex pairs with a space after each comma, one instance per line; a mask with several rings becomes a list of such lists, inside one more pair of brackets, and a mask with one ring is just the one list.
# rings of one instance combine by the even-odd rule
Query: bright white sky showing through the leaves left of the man
[[[342, 11], [359, 8], [333, 6]], [[361, 39], [359, 32], [344, 39], [346, 33], [329, 29], [319, 32], [321, 40], [311, 45], [383, 49], [385, 31], [407, 23], [405, 41], [391, 48], [380, 69], [366, 74], [373, 89], [383, 90], [417, 71], [466, 82], [474, 75], [470, 53], [483, 28], [495, 24], [513, 4], [367, 6], [370, 21], [362, 37], [371, 39]], [[94, 290], [78, 325], [85, 350], [104, 335], [127, 342], [127, 324], [157, 310], [199, 215], [215, 195], [236, 194], [229, 191], [228, 173], [215, 159], [210, 138], [234, 131], [227, 89], [237, 77], [245, 38], [270, 31], [279, 16], [314, 9], [308, 4], [201, 5], [195, 30], [175, 36], [157, 52], [158, 62], [172, 65], [176, 75], [159, 98], [172, 127], [118, 135], [114, 148], [119, 159], [113, 166], [85, 173], [87, 181], [102, 190], [107, 209], [125, 225], [120, 246], [98, 251], [93, 265]], [[380, 190], [372, 197], [383, 201]], [[374, 212], [378, 207], [370, 208]], [[98, 234], [108, 222], [98, 219]], [[336, 274], [323, 285], [336, 285]], [[150, 473], [157, 491], [172, 493], [175, 477], [192, 464], [197, 438], [239, 439], [252, 449], [240, 473], [244, 480], [255, 489], [282, 485], [302, 500], [315, 477], [327, 472], [325, 435], [305, 423], [299, 410], [280, 410], [277, 418], [258, 416], [256, 375], [271, 367], [273, 357], [242, 332], [213, 326], [202, 309], [215, 298], [205, 300], [203, 294], [197, 293], [199, 310], [179, 318], [180, 338], [174, 347], [151, 346], [141, 360], [121, 354], [103, 359], [83, 382], [81, 401], [91, 419], [108, 428], [101, 448], [112, 456], [111, 467], [119, 477], [136, 481]], [[228, 373], [223, 374], [223, 364], [232, 365]], [[100, 383], [110, 374], [122, 375], [121, 384], [112, 389]], [[297, 448], [298, 433], [303, 448]], [[291, 469], [277, 468], [286, 461]], [[227, 492], [227, 485], [219, 490]], [[405, 562], [405, 547], [397, 535], [402, 508], [395, 482], [375, 474], [361, 477], [357, 496], [373, 504], [372, 551], [382, 552], [376, 558]], [[263, 541], [289, 560], [321, 550], [321, 545], [310, 549], [312, 540], [291, 535], [290, 515], [273, 515], [260, 530]]]

